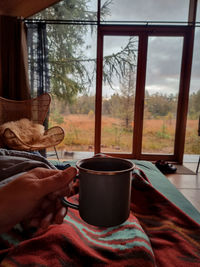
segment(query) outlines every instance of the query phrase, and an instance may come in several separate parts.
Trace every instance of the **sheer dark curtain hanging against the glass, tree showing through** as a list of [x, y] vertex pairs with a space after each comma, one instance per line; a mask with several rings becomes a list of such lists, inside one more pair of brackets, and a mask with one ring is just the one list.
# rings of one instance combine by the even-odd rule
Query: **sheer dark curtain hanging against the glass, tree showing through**
[[27, 22], [26, 26], [31, 95], [37, 96], [50, 90], [46, 23]]

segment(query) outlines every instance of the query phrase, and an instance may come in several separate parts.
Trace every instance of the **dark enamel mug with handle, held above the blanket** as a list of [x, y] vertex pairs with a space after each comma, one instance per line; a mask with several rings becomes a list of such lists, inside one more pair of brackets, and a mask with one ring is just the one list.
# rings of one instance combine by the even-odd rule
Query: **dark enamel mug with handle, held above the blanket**
[[79, 210], [88, 224], [116, 226], [130, 213], [131, 177], [135, 165], [121, 158], [93, 157], [77, 162], [79, 205], [63, 198], [67, 207]]

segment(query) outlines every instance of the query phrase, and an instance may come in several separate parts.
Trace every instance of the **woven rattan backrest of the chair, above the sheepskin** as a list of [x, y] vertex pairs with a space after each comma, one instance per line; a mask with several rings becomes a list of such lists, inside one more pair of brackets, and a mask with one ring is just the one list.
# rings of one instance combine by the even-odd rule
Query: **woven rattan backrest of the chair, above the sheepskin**
[[43, 124], [47, 116], [51, 96], [44, 93], [28, 100], [10, 100], [0, 97], [0, 125], [8, 121], [27, 118], [34, 123]]

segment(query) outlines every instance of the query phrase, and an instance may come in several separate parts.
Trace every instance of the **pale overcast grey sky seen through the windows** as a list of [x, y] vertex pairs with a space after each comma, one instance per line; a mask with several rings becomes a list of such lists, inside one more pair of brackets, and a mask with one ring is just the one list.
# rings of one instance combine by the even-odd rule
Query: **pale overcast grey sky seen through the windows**
[[[102, 4], [105, 1], [102, 0]], [[132, 21], [186, 21], [189, 0], [113, 0], [111, 14], [106, 20]], [[198, 21], [199, 19], [198, 8]], [[123, 39], [123, 37], [121, 37]], [[123, 41], [110, 38], [106, 51], [116, 52]], [[125, 40], [125, 38], [124, 38]], [[124, 44], [125, 45], [125, 44]], [[146, 89], [176, 94], [179, 89], [183, 39], [181, 37], [153, 37], [149, 39]], [[196, 28], [190, 93], [200, 89], [200, 28]], [[104, 86], [107, 91], [108, 87]]]

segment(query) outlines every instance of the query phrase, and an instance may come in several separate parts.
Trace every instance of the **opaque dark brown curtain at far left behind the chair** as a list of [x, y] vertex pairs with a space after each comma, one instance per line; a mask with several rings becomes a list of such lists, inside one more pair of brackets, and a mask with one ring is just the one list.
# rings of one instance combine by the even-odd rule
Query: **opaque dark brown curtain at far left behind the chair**
[[16, 17], [0, 16], [0, 96], [30, 98], [26, 31]]

